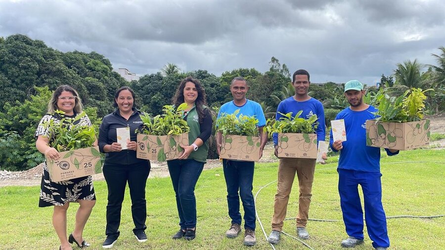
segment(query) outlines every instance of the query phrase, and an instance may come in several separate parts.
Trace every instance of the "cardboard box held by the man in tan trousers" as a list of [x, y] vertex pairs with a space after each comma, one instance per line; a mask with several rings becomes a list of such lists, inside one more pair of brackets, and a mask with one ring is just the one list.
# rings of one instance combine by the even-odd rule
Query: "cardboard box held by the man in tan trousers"
[[317, 159], [317, 134], [278, 133], [278, 157]]

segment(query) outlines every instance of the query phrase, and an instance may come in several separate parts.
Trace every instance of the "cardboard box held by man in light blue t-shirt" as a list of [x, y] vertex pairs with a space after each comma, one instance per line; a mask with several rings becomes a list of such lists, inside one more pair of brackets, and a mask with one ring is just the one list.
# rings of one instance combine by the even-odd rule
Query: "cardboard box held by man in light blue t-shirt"
[[258, 162], [260, 160], [260, 137], [230, 135], [223, 136], [220, 158]]

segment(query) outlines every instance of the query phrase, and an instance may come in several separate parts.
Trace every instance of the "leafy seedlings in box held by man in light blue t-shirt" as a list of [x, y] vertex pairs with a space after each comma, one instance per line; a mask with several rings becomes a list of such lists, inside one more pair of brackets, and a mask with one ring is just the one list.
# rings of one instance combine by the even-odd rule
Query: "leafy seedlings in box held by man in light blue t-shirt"
[[236, 115], [239, 113], [237, 109], [233, 114], [223, 113], [216, 121], [217, 131], [221, 131], [224, 135], [244, 135], [244, 136], [258, 136], [258, 119], [252, 116]]

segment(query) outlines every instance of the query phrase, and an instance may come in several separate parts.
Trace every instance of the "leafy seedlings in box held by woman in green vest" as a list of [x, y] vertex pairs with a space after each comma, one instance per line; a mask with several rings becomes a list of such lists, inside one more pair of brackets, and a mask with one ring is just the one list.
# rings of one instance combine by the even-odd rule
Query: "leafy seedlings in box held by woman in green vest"
[[162, 115], [151, 117], [150, 114], [144, 114], [140, 116], [144, 124], [140, 132], [150, 135], [176, 135], [190, 131], [187, 122], [182, 119], [186, 108], [186, 103], [182, 103], [177, 109], [172, 105], [165, 105]]

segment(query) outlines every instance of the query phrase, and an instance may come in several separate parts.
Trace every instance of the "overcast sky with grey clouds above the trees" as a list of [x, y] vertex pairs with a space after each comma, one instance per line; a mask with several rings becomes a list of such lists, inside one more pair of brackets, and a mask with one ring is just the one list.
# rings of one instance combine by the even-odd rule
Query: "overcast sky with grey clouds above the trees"
[[96, 51], [137, 75], [175, 63], [217, 76], [268, 70], [272, 56], [312, 83], [371, 85], [445, 46], [444, 0], [0, 0], [0, 36]]

